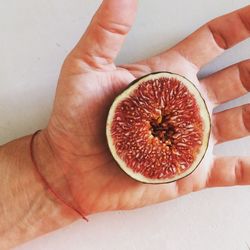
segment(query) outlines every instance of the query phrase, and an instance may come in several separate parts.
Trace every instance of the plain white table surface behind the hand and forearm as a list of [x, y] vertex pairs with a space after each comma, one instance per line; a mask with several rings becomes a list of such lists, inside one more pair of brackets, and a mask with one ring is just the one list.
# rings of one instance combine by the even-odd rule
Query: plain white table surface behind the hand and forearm
[[[118, 1], [118, 0], [117, 0]], [[0, 0], [0, 143], [44, 127], [60, 66], [101, 1]], [[141, 0], [118, 63], [175, 44], [209, 19], [248, 0]], [[250, 57], [250, 41], [229, 50], [201, 75]], [[222, 106], [250, 101], [250, 95]], [[250, 139], [217, 154], [249, 155]], [[218, 188], [129, 212], [93, 215], [19, 250], [244, 250], [250, 246], [250, 187]]]

